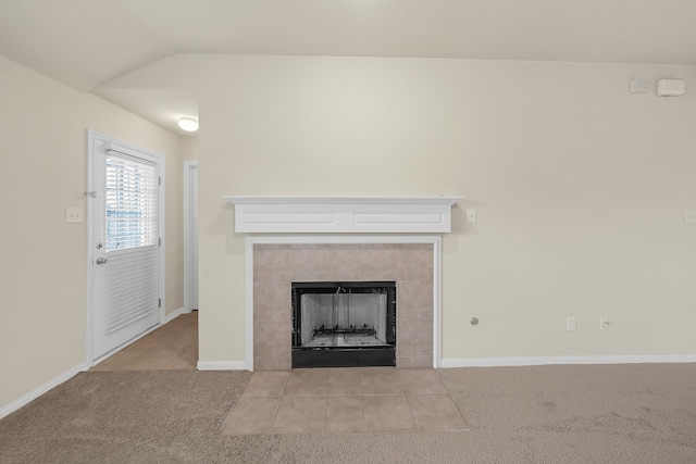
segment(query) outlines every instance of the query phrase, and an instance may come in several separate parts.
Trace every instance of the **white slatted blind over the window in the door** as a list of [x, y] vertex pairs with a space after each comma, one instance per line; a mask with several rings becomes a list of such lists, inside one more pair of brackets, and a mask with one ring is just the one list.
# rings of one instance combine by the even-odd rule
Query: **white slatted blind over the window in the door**
[[107, 251], [158, 241], [158, 175], [153, 164], [107, 156]]

